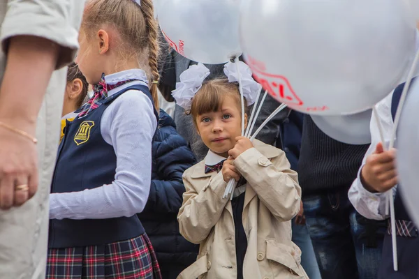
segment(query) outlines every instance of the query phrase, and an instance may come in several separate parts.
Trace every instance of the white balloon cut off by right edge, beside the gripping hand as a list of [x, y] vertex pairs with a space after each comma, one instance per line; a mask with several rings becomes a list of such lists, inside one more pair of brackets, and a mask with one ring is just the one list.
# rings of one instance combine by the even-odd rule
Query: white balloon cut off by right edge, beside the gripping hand
[[413, 82], [397, 128], [397, 172], [409, 216], [419, 224], [419, 82]]

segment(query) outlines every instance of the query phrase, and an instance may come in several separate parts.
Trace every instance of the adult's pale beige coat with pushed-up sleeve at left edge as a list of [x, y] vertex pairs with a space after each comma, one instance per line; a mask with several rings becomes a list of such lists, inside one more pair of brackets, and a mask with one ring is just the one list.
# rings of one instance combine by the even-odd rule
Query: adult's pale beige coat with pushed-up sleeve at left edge
[[66, 86], [64, 66], [73, 61], [78, 49], [83, 8], [84, 0], [0, 0], [0, 82], [8, 38], [40, 36], [61, 45], [57, 70], [52, 74], [38, 115], [38, 193], [19, 208], [0, 211], [0, 278], [45, 278], [48, 197]]

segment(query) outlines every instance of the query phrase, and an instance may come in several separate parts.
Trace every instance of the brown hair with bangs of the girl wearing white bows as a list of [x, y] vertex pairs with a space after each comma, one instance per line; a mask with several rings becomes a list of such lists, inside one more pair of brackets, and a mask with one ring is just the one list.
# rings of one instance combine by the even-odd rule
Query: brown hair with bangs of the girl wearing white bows
[[[242, 112], [242, 100], [240, 98], [239, 84], [228, 82], [226, 78], [205, 81], [201, 89], [193, 97], [191, 111], [193, 123], [196, 126], [196, 118], [207, 112], [217, 112], [226, 97], [233, 97], [240, 113]], [[244, 99], [244, 113], [249, 114], [247, 101]]]

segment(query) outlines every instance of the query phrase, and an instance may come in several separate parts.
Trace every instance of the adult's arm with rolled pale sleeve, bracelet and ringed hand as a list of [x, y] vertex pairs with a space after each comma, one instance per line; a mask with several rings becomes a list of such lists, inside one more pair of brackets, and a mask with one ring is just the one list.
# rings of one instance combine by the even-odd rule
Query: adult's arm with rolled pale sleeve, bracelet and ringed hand
[[[0, 35], [7, 57], [0, 88], [1, 122], [35, 136], [36, 119], [52, 72], [70, 63], [78, 48], [82, 2], [81, 6], [77, 8], [73, 0], [8, 1]], [[13, 203], [20, 205], [36, 193], [37, 160], [33, 142], [0, 128], [2, 209]], [[29, 193], [19, 191], [15, 195], [15, 183], [28, 184]]]

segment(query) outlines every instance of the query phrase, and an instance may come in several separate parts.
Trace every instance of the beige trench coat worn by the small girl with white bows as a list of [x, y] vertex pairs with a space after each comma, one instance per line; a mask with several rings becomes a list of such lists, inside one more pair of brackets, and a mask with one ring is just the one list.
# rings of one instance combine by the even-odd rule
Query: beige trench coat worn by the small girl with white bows
[[[255, 141], [235, 161], [247, 179], [242, 221], [248, 247], [244, 279], [307, 278], [301, 251], [291, 241], [291, 219], [300, 209], [301, 188], [284, 151]], [[235, 227], [227, 183], [221, 172], [205, 174], [205, 163], [184, 173], [181, 234], [200, 244], [198, 260], [178, 278], [236, 279]]]

